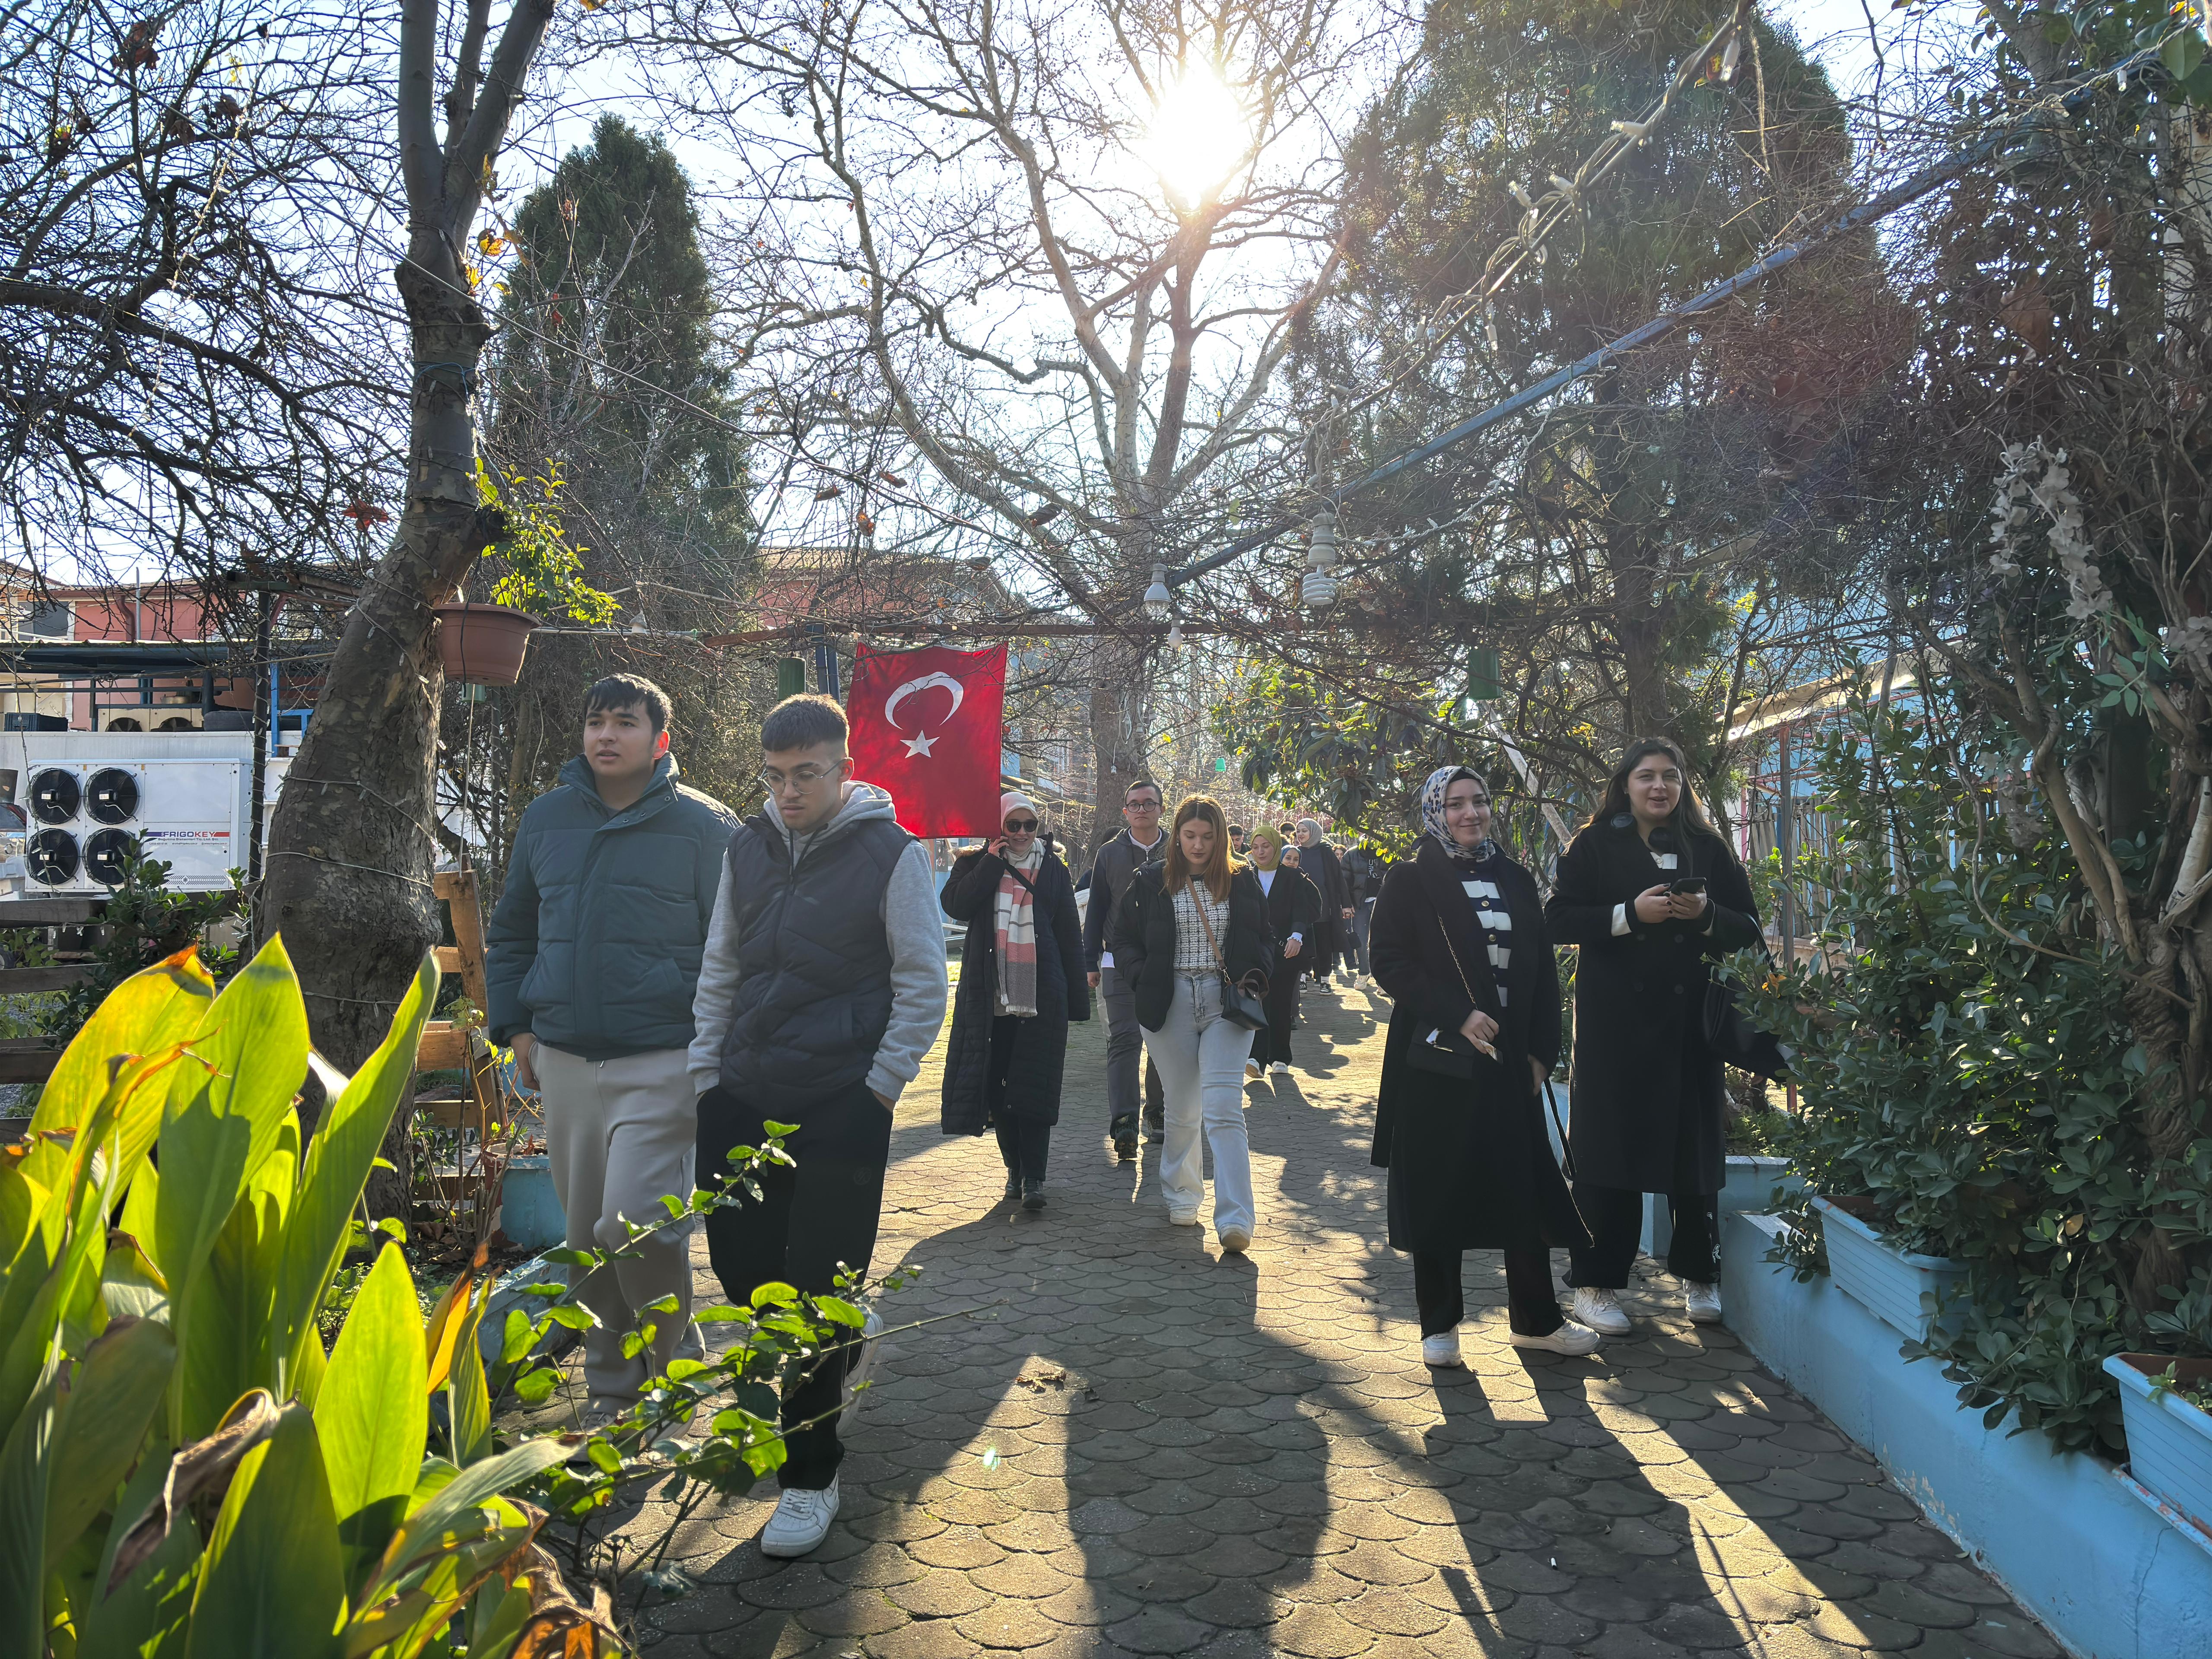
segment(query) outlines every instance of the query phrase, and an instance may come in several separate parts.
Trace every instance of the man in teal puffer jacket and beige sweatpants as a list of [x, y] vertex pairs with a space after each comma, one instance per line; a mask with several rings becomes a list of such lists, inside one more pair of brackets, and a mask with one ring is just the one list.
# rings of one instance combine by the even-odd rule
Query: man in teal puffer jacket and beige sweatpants
[[[692, 987], [737, 814], [677, 772], [668, 695], [637, 675], [593, 686], [584, 752], [524, 810], [484, 929], [489, 1035], [540, 1093], [571, 1250], [615, 1250], [626, 1221], [666, 1219], [661, 1199], [692, 1192]], [[679, 1312], [653, 1318], [653, 1343], [626, 1358], [635, 1310], [664, 1296]], [[593, 1425], [668, 1360], [701, 1354], [688, 1225], [639, 1239], [577, 1301], [599, 1318], [584, 1332]]]

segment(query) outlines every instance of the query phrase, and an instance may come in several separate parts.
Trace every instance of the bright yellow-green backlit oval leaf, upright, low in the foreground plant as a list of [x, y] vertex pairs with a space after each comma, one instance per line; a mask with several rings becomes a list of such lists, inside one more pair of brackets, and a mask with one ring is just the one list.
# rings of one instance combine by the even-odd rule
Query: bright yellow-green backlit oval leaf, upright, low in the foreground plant
[[422, 1314], [396, 1243], [383, 1248], [354, 1292], [314, 1402], [314, 1429], [341, 1542], [354, 1562], [374, 1562], [407, 1513], [429, 1436]]

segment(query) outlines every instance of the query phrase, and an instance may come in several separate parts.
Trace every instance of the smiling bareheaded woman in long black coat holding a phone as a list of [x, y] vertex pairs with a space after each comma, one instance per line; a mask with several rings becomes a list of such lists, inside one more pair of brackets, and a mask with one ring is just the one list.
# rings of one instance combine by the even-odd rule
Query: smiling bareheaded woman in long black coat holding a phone
[[1575, 1208], [1593, 1243], [1575, 1252], [1575, 1318], [1624, 1334], [1619, 1292], [1644, 1230], [1644, 1194], [1674, 1219], [1666, 1267], [1699, 1325], [1721, 1318], [1721, 1062], [1705, 1048], [1705, 980], [1717, 958], [1759, 942], [1752, 883], [1661, 737], [1635, 743], [1559, 856], [1544, 911], [1582, 947], [1575, 969], [1571, 1146]]

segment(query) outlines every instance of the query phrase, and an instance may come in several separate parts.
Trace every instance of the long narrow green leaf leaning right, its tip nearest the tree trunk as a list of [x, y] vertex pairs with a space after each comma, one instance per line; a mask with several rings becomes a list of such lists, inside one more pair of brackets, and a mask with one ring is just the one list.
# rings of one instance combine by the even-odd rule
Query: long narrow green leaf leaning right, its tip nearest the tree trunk
[[422, 967], [398, 1013], [392, 1015], [383, 1044], [323, 1113], [307, 1146], [307, 1168], [292, 1203], [292, 1219], [285, 1223], [283, 1263], [276, 1274], [272, 1343], [279, 1356], [279, 1383], [285, 1387], [292, 1385], [292, 1367], [299, 1365], [301, 1345], [314, 1329], [314, 1310], [338, 1270], [347, 1223], [369, 1179], [376, 1148], [385, 1141], [392, 1113], [398, 1110], [400, 1095], [414, 1077], [422, 1022], [436, 1002], [438, 960], [425, 951]]

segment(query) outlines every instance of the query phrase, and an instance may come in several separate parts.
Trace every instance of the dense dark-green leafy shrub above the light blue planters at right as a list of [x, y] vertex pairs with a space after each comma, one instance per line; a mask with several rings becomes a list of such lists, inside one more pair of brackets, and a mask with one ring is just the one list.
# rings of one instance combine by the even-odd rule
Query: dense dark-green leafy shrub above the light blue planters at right
[[[1958, 1332], [1924, 1352], [1991, 1427], [2017, 1413], [2059, 1447], [2117, 1453], [2121, 1349], [2201, 1354], [2203, 1274], [2161, 1310], [2128, 1294], [2128, 1241], [2157, 1219], [2203, 1239], [2212, 1144], [2159, 1166], [2141, 1133], [2146, 1062], [2126, 973], [2099, 940], [2066, 843], [2000, 823], [1964, 743], [1933, 719], [1854, 701], [1818, 750], [1834, 858], [1823, 945], [1838, 971], [1736, 958], [1750, 1013], [1798, 1051], [1803, 1115], [1781, 1148], [1812, 1192], [1874, 1201], [1891, 1243], [1966, 1265]], [[1809, 1206], [1785, 1254], [1825, 1267]]]

